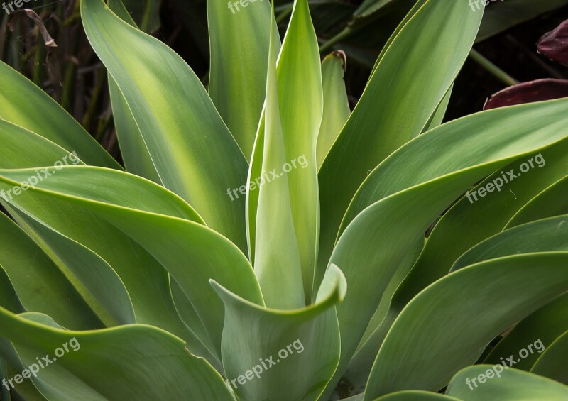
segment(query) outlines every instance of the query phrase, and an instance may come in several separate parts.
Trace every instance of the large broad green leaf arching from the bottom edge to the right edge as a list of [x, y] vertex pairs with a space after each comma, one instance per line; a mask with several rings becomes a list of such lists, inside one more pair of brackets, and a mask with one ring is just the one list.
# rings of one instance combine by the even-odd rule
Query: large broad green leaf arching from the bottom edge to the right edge
[[567, 252], [509, 256], [458, 270], [430, 285], [408, 303], [388, 332], [365, 400], [397, 390], [443, 388], [453, 373], [481, 356], [491, 339], [565, 292], [567, 266]]

